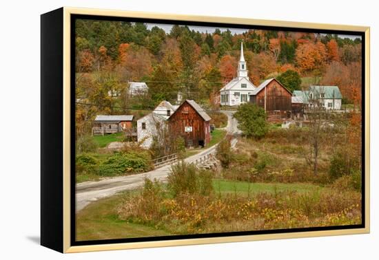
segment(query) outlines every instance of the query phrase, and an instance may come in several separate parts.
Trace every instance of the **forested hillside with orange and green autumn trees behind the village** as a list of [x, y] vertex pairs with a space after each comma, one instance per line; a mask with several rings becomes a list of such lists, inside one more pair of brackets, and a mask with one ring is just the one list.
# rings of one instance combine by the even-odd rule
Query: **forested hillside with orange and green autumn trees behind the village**
[[[360, 100], [359, 38], [267, 30], [232, 34], [213, 28], [207, 33], [180, 25], [169, 33], [149, 28], [143, 23], [76, 21], [76, 98], [94, 105], [77, 106], [79, 124], [95, 113], [153, 109], [161, 100], [176, 100], [178, 91], [183, 98], [214, 107], [218, 90], [236, 76], [241, 41], [255, 85], [291, 69], [300, 74], [302, 87], [338, 85], [345, 102]], [[147, 83], [149, 94], [133, 100], [108, 96], [108, 91], [125, 91], [128, 81]]]

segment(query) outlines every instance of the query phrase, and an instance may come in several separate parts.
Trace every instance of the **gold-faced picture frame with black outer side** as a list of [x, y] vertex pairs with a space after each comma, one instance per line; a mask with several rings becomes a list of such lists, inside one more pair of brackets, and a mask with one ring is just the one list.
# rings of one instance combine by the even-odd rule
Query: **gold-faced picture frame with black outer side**
[[[316, 230], [316, 231], [303, 231], [303, 232], [280, 232], [274, 234], [259, 234], [259, 235], [236, 235], [227, 237], [204, 237], [204, 238], [194, 238], [194, 239], [176, 239], [176, 240], [158, 240], [158, 241], [136, 241], [136, 242], [125, 242], [125, 243], [98, 243], [91, 245], [74, 246], [72, 245], [72, 147], [70, 138], [72, 136], [72, 28], [71, 28], [71, 17], [73, 15], [89, 15], [89, 16], [99, 16], [99, 17], [129, 17], [129, 18], [139, 18], [139, 19], [157, 19], [165, 21], [195, 21], [204, 23], [226, 23], [227, 25], [255, 25], [255, 26], [272, 26], [280, 28], [293, 28], [296, 29], [315, 29], [315, 30], [338, 30], [346, 32], [361, 32], [364, 35], [365, 45], [362, 47], [365, 50], [364, 56], [364, 68], [365, 68], [365, 183], [364, 183], [364, 227], [362, 228], [347, 228], [338, 230]], [[59, 132], [49, 132], [48, 130], [43, 131], [42, 135], [54, 137], [54, 135], [61, 133], [61, 147], [56, 149], [61, 149], [61, 153], [52, 154], [49, 153], [48, 145], [46, 140], [42, 138], [42, 166], [41, 169], [41, 244], [47, 246], [54, 250], [60, 252], [89, 252], [89, 251], [99, 251], [99, 250], [120, 250], [120, 249], [130, 249], [130, 248], [150, 248], [150, 247], [163, 247], [163, 246], [184, 246], [184, 245], [195, 245], [195, 244], [206, 244], [206, 243], [226, 243], [226, 242], [238, 242], [238, 241], [256, 241], [256, 240], [268, 240], [268, 239], [289, 239], [289, 238], [300, 238], [300, 237], [320, 237], [320, 236], [331, 236], [331, 235], [353, 235], [353, 234], [363, 234], [369, 233], [369, 43], [370, 43], [370, 29], [364, 26], [354, 26], [354, 25], [331, 25], [323, 23], [300, 23], [293, 21], [271, 21], [271, 20], [259, 20], [259, 19], [244, 19], [244, 18], [232, 18], [232, 17], [203, 17], [203, 16], [192, 16], [192, 15], [178, 15], [178, 14], [158, 14], [150, 12], [131, 12], [131, 11], [121, 11], [121, 10], [99, 10], [99, 9], [87, 9], [87, 8], [61, 8], [56, 11], [52, 11], [48, 14], [43, 14], [41, 17], [41, 59], [42, 63], [48, 63], [48, 58], [51, 58], [51, 53], [56, 53], [57, 50], [46, 50], [45, 47], [48, 41], [54, 37], [54, 33], [61, 34], [61, 55], [58, 55], [57, 63], [61, 63], [62, 71], [52, 72], [52, 70], [59, 70], [57, 67], [51, 67], [49, 65], [43, 65], [41, 67], [41, 78], [42, 78], [42, 128], [45, 127], [44, 124], [44, 109], [48, 106], [48, 102], [44, 103], [44, 95], [47, 84], [59, 83], [61, 82], [61, 88], [57, 87], [57, 91], [54, 94], [57, 98], [61, 100], [61, 110], [54, 111], [54, 113], [59, 114], [59, 124], [56, 125], [57, 129], [61, 128]], [[53, 23], [58, 23], [57, 28], [53, 27]], [[57, 39], [56, 41], [60, 41]], [[48, 47], [46, 47], [48, 48]], [[59, 50], [59, 49], [58, 49]], [[51, 55], [50, 55], [51, 54]], [[50, 56], [49, 56], [50, 55]], [[55, 54], [54, 54], [55, 55]], [[53, 55], [53, 56], [54, 56]], [[48, 74], [55, 73], [58, 78], [55, 79], [44, 79], [48, 77]], [[52, 80], [52, 81], [49, 81]], [[57, 80], [57, 81], [54, 81]], [[61, 81], [59, 81], [61, 80]], [[45, 84], [45, 85], [44, 85]], [[45, 105], [44, 105], [45, 104]], [[50, 104], [51, 105], [51, 104]], [[51, 112], [51, 111], [50, 111]], [[46, 117], [48, 114], [45, 115]], [[50, 149], [53, 149], [50, 147]], [[54, 158], [52, 157], [54, 156]], [[60, 167], [54, 169], [54, 165], [47, 163], [47, 160], [57, 160], [60, 162]], [[362, 162], [363, 164], [363, 162]], [[50, 174], [54, 173], [58, 177], [49, 177]], [[50, 188], [49, 188], [50, 187]], [[54, 191], [52, 191], [54, 189]], [[61, 194], [61, 197], [59, 197]], [[52, 206], [53, 200], [57, 199], [55, 206]], [[60, 201], [61, 199], [61, 201]], [[363, 205], [362, 205], [363, 206]], [[58, 207], [54, 214], [61, 214], [61, 217], [53, 221], [53, 223], [48, 223], [48, 219], [57, 217], [51, 210], [54, 211], [54, 207]], [[55, 208], [57, 209], [57, 208]], [[54, 235], [55, 234], [55, 235]], [[56, 237], [55, 241], [51, 241]]]

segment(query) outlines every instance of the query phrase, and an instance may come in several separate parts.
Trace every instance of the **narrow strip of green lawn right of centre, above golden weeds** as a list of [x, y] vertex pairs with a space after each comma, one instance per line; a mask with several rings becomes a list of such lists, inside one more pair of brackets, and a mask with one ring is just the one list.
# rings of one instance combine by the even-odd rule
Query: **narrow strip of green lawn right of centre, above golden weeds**
[[249, 183], [233, 182], [229, 180], [213, 180], [213, 187], [216, 193], [238, 193], [238, 195], [256, 194], [256, 193], [274, 193], [280, 191], [297, 191], [306, 193], [313, 191], [320, 186], [308, 183]]

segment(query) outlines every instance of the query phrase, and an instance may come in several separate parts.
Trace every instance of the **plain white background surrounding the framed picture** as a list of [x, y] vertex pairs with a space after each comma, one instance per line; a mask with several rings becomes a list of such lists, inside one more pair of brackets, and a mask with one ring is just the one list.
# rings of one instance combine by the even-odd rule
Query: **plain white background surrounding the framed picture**
[[[1, 259], [378, 259], [378, 120], [371, 117], [371, 234], [62, 255], [39, 246], [39, 14], [61, 6], [371, 26], [371, 100], [378, 95], [376, 1], [2, 1]], [[371, 115], [378, 113], [372, 102]], [[375, 145], [376, 144], [376, 145]]]

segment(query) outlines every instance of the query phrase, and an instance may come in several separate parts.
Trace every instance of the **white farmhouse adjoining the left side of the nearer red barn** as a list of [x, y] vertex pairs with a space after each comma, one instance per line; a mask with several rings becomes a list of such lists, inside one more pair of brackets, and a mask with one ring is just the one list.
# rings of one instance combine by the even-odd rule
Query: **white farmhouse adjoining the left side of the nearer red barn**
[[158, 127], [166, 127], [166, 120], [176, 108], [170, 102], [163, 100], [152, 113], [137, 120], [137, 140], [141, 147], [149, 149], [152, 146], [153, 136], [158, 134]]

